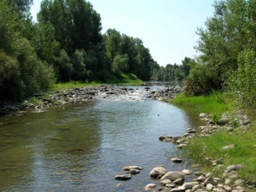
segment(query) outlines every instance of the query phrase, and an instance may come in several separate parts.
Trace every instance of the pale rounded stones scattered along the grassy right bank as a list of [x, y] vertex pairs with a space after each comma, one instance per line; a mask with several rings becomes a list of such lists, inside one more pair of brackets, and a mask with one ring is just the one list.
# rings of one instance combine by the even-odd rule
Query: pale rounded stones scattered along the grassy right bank
[[[221, 118], [214, 122], [212, 117], [209, 114], [202, 113], [199, 115], [201, 121], [204, 122], [205, 125], [199, 126], [198, 129], [188, 129], [188, 132], [184, 133], [183, 136], [159, 136], [159, 140], [163, 142], [170, 142], [177, 145], [177, 148], [185, 148], [190, 142], [190, 139], [193, 136], [199, 137], [208, 137], [215, 132], [218, 131], [226, 131], [227, 134], [232, 132], [233, 129], [229, 122], [236, 121], [239, 124], [239, 128], [241, 132], [245, 132], [247, 129], [250, 129], [251, 122], [249, 118], [245, 115], [236, 114], [236, 118], [231, 119], [228, 115], [222, 115]], [[223, 150], [232, 149], [234, 145], [223, 146]], [[203, 149], [202, 149], [203, 152]], [[171, 161], [176, 163], [181, 162], [182, 160], [179, 158], [172, 158]], [[213, 169], [223, 169], [221, 159], [213, 159], [210, 157], [206, 158], [208, 164], [213, 166]], [[201, 165], [192, 165], [193, 166], [201, 166]], [[150, 173], [150, 176], [154, 178], [160, 179], [160, 184], [165, 188], [169, 188], [170, 191], [185, 191], [185, 192], [194, 192], [194, 191], [218, 191], [218, 192], [243, 192], [243, 191], [254, 191], [254, 187], [247, 185], [243, 179], [240, 179], [238, 176], [238, 171], [240, 169], [246, 168], [246, 165], [243, 165], [243, 162], [238, 165], [229, 165], [224, 168], [225, 171], [222, 172], [221, 177], [214, 176], [213, 172], [191, 172], [190, 170], [184, 170], [182, 172], [166, 172], [165, 168], [154, 168]], [[187, 174], [185, 173], [187, 172]], [[167, 176], [166, 176], [167, 174]], [[196, 179], [192, 182], [184, 183], [185, 176], [191, 176], [193, 174]], [[170, 177], [175, 176], [174, 178]], [[176, 177], [177, 176], [177, 177]], [[156, 186], [155, 186], [156, 187]], [[152, 190], [152, 183], [150, 183], [146, 190]], [[163, 188], [160, 188], [163, 190]]]

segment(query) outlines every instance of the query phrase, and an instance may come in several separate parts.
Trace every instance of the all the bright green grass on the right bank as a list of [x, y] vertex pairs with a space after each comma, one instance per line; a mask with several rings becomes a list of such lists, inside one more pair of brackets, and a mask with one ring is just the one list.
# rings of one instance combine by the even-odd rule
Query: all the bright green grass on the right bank
[[[218, 121], [222, 113], [233, 114], [237, 110], [233, 107], [229, 96], [220, 92], [214, 92], [210, 96], [199, 97], [186, 97], [182, 93], [172, 103], [186, 110], [196, 111], [198, 114], [203, 112], [212, 114], [213, 121]], [[251, 120], [253, 122], [250, 129], [244, 129], [233, 117], [229, 126], [236, 129], [233, 129], [232, 132], [220, 129], [221, 131], [211, 136], [193, 137], [188, 143], [188, 147], [182, 150], [181, 155], [183, 155], [183, 158], [187, 158], [188, 161], [202, 164], [203, 171], [214, 172], [214, 176], [219, 178], [222, 177], [222, 174], [229, 165], [243, 164], [246, 168], [240, 170], [238, 176], [255, 188], [256, 124], [255, 118]], [[229, 145], [234, 147], [226, 150], [222, 148]], [[181, 151], [178, 153], [181, 153]], [[209, 161], [206, 160], [207, 158], [212, 158], [213, 160], [223, 158], [223, 164], [213, 168]]]

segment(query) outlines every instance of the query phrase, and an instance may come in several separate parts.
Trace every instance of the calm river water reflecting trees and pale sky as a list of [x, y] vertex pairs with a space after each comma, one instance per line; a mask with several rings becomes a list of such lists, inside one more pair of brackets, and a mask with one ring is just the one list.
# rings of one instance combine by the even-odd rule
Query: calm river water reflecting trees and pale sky
[[[0, 118], [0, 191], [143, 191], [148, 183], [160, 186], [149, 177], [152, 168], [187, 168], [169, 160], [174, 145], [158, 138], [193, 127], [188, 114], [133, 89], [126, 96]], [[144, 169], [130, 180], [115, 180], [126, 165]]]

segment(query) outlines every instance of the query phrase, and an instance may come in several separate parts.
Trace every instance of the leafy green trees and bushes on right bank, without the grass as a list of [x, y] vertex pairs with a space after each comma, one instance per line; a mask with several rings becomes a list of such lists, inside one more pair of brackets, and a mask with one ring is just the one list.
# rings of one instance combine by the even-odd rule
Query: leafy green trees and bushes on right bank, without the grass
[[197, 30], [201, 55], [191, 65], [186, 94], [230, 88], [242, 103], [255, 107], [255, 0], [215, 2], [214, 16], [205, 24]]

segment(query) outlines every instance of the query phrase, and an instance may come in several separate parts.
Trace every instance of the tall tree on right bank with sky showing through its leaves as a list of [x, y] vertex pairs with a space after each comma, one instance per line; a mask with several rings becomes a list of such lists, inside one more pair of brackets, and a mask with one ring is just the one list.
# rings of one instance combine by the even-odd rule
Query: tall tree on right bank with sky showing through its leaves
[[202, 53], [201, 63], [218, 74], [221, 89], [230, 74], [237, 69], [237, 56], [246, 42], [244, 27], [245, 0], [228, 0], [214, 3], [214, 16], [207, 19], [206, 29], [199, 28], [196, 49]]

